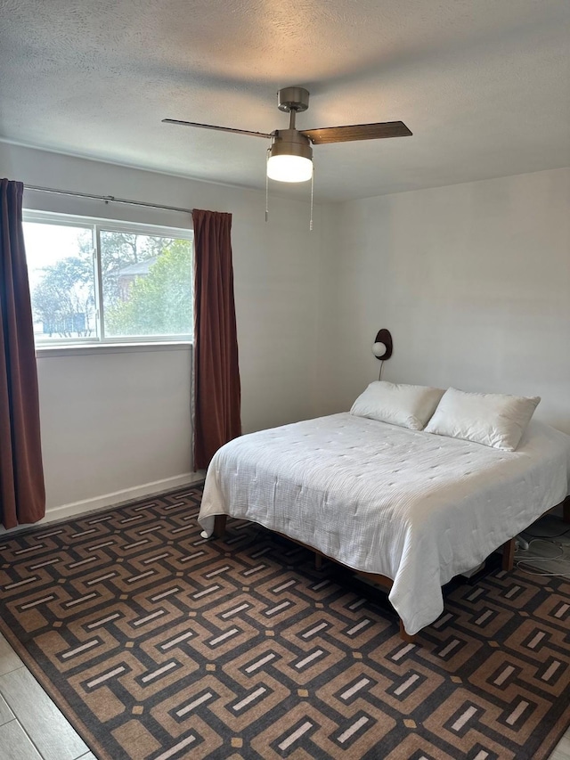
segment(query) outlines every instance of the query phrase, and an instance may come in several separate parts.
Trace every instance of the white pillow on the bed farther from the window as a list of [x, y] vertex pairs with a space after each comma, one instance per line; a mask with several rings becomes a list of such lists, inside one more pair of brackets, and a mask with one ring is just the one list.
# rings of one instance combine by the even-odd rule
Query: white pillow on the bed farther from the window
[[540, 400], [448, 388], [426, 432], [515, 451]]

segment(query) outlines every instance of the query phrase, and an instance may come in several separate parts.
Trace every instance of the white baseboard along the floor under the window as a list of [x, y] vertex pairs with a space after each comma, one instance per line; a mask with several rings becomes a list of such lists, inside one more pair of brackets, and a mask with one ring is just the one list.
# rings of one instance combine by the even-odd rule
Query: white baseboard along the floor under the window
[[[112, 494], [102, 494], [101, 496], [94, 496], [92, 499], [83, 499], [80, 502], [61, 504], [60, 507], [52, 507], [51, 509], [46, 510], [45, 517], [38, 520], [34, 525], [42, 525], [42, 523], [52, 522], [53, 520], [75, 517], [85, 512], [102, 510], [105, 507], [117, 506], [120, 503], [130, 502], [133, 499], [140, 499], [144, 496], [161, 494], [165, 491], [171, 491], [173, 488], [188, 486], [191, 483], [202, 480], [204, 476], [205, 472], [202, 470], [199, 470], [198, 472], [185, 472], [183, 475], [175, 475], [174, 478], [163, 478], [162, 480], [154, 480], [151, 483], [144, 483], [142, 486], [134, 486], [132, 488], [123, 488], [120, 491], [113, 491]], [[29, 526], [21, 525], [12, 528], [12, 530], [19, 530], [22, 527]], [[0, 526], [0, 533], [12, 533], [12, 530], [7, 531]]]

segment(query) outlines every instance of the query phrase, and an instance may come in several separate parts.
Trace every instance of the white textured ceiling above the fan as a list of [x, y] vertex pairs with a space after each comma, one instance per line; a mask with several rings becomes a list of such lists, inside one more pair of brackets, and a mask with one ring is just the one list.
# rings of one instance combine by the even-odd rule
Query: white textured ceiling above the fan
[[0, 139], [263, 189], [264, 141], [160, 120], [271, 132], [299, 85], [301, 129], [414, 133], [315, 146], [317, 200], [559, 168], [569, 51], [568, 0], [0, 0]]

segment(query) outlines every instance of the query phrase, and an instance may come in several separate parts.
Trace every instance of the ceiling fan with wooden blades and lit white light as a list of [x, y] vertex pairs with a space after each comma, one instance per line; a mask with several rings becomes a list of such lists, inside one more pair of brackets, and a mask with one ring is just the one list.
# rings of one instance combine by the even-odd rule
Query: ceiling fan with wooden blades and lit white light
[[180, 124], [184, 127], [204, 127], [220, 132], [234, 132], [237, 135], [254, 135], [272, 140], [268, 149], [267, 176], [279, 182], [305, 182], [313, 177], [313, 148], [311, 145], [323, 143], [350, 143], [354, 140], [378, 140], [384, 137], [405, 137], [411, 131], [403, 121], [384, 121], [377, 124], [354, 124], [346, 127], [324, 127], [322, 129], [297, 129], [297, 113], [309, 107], [309, 92], [304, 87], [283, 87], [277, 93], [277, 108], [289, 113], [289, 128], [275, 129], [274, 132], [249, 132], [247, 129], [215, 127], [194, 121], [163, 118], [166, 124]]

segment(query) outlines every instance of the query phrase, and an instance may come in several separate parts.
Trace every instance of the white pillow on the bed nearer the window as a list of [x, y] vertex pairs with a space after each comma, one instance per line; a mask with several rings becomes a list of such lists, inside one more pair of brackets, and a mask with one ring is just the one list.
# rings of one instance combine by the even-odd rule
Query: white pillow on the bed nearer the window
[[443, 395], [442, 388], [376, 380], [358, 396], [350, 413], [401, 428], [421, 430], [436, 411]]

